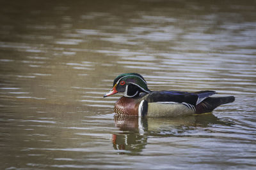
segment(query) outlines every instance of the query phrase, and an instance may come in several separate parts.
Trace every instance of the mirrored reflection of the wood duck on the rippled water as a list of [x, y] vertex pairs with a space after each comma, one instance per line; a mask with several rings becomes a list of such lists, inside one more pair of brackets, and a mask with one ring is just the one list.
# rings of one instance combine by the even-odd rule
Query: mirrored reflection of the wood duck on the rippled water
[[118, 153], [140, 154], [148, 143], [148, 136], [169, 137], [188, 135], [197, 131], [197, 127], [212, 125], [232, 125], [215, 117], [211, 113], [175, 118], [141, 118], [115, 116], [115, 126], [119, 133], [112, 135], [113, 148]]

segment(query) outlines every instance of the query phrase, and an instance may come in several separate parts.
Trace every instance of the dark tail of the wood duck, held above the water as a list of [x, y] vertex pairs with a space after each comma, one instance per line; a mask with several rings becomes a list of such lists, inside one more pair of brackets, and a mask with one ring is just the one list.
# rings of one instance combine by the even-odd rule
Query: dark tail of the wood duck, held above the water
[[196, 114], [208, 113], [222, 104], [232, 103], [235, 101], [234, 96], [227, 97], [207, 97], [201, 103], [196, 105]]

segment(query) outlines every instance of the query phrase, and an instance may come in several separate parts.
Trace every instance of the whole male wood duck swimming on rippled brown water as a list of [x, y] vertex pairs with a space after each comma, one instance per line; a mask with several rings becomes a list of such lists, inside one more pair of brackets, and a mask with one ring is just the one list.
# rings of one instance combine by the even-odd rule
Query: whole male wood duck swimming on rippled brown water
[[117, 76], [113, 89], [104, 97], [116, 93], [124, 94], [115, 104], [114, 111], [119, 115], [138, 117], [177, 117], [208, 113], [221, 104], [232, 103], [234, 96], [209, 97], [215, 91], [199, 92], [151, 91], [147, 82], [138, 73], [124, 73]]

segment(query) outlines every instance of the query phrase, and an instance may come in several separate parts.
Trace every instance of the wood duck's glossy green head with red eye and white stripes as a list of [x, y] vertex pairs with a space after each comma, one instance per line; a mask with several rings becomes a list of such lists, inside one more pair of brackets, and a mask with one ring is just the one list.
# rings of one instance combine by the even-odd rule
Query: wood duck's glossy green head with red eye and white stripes
[[104, 95], [111, 96], [116, 93], [122, 93], [125, 97], [139, 96], [140, 92], [150, 93], [147, 82], [143, 76], [138, 73], [124, 73], [117, 76], [113, 82], [113, 89]]

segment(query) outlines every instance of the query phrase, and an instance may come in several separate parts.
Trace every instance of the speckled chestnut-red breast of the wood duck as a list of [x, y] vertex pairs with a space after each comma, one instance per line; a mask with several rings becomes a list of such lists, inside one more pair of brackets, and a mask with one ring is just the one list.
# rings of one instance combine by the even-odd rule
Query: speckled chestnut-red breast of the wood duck
[[138, 115], [139, 104], [136, 99], [131, 97], [120, 97], [116, 101], [114, 111], [120, 115]]

